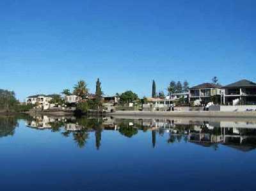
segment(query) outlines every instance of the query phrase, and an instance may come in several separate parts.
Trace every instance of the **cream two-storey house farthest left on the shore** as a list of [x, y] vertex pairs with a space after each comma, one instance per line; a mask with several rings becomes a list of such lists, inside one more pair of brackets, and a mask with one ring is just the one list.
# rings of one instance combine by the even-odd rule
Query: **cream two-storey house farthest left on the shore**
[[[48, 109], [51, 107], [51, 104], [49, 103], [52, 98], [56, 95], [33, 95], [33, 96], [28, 96], [26, 98], [26, 103], [27, 104], [35, 104], [37, 107]], [[60, 96], [60, 95], [57, 95]]]

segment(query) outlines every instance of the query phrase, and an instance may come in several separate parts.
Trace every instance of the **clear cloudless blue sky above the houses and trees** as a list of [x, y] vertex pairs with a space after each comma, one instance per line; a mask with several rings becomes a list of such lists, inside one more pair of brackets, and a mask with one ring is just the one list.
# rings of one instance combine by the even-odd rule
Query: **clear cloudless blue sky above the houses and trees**
[[256, 1], [1, 0], [0, 88], [20, 100], [83, 79], [149, 96], [171, 80], [256, 81]]

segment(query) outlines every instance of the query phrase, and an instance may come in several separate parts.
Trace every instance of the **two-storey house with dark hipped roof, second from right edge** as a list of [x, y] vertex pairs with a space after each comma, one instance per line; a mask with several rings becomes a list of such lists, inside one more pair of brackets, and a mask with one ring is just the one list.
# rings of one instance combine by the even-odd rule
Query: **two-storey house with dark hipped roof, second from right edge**
[[202, 104], [212, 102], [212, 97], [218, 103], [225, 103], [225, 90], [219, 84], [204, 83], [189, 88], [189, 102], [199, 100]]

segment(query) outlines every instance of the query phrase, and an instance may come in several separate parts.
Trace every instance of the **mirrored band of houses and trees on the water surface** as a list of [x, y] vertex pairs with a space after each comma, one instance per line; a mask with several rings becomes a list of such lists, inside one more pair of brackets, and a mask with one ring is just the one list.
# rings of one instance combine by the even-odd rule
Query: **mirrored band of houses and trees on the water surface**
[[[0, 118], [0, 137], [13, 135], [19, 125], [17, 116]], [[29, 116], [26, 126], [37, 130], [49, 129], [64, 137], [72, 137], [79, 148], [86, 148], [90, 136], [95, 137], [95, 148], [100, 149], [102, 132], [116, 131], [127, 138], [139, 132], [150, 132], [152, 148], [157, 148], [157, 139], [166, 139], [170, 145], [190, 142], [217, 150], [221, 145], [240, 151], [256, 148], [256, 121], [195, 119], [118, 119], [118, 118], [75, 118], [52, 116]]]

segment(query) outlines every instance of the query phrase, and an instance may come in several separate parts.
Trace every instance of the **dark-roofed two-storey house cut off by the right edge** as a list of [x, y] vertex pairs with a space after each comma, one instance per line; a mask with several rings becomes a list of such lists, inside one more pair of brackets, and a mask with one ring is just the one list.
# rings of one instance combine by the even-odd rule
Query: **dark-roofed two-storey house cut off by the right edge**
[[256, 104], [256, 83], [249, 80], [234, 82], [225, 88], [225, 102], [233, 105], [234, 100], [239, 100], [242, 104]]

